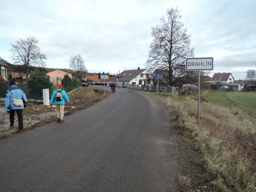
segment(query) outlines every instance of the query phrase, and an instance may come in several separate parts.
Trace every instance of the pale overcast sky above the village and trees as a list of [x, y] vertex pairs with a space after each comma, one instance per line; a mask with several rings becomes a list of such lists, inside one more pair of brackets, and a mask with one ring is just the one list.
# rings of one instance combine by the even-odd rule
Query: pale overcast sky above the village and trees
[[255, 0], [0, 0], [0, 57], [12, 63], [11, 44], [35, 36], [48, 68], [77, 53], [88, 72], [145, 68], [151, 27], [177, 5], [195, 57], [214, 58], [211, 77], [256, 70]]

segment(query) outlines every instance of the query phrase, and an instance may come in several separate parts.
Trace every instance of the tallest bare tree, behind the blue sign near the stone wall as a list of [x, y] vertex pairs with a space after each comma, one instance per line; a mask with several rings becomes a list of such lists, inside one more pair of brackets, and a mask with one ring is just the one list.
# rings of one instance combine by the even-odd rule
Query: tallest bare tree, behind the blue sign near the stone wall
[[154, 38], [149, 47], [146, 67], [154, 72], [165, 71], [168, 74], [170, 86], [184, 79], [186, 58], [194, 57], [194, 48], [190, 48], [190, 35], [180, 21], [178, 7], [167, 9], [167, 18], [160, 19], [160, 24], [152, 27]]

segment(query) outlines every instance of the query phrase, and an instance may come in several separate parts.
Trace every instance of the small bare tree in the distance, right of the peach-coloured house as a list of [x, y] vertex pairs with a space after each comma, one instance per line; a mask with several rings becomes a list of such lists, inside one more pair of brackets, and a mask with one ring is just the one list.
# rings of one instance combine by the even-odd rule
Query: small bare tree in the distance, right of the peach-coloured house
[[[86, 73], [88, 70], [85, 67], [84, 60], [80, 54], [72, 55], [69, 59], [69, 68], [76, 71], [76, 77], [79, 78], [79, 73]], [[81, 75], [81, 74], [80, 74]]]

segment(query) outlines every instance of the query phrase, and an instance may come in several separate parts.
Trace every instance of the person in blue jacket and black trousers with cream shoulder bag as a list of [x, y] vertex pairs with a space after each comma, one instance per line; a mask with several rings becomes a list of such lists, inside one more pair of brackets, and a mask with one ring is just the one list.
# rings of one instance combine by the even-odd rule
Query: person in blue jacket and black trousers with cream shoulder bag
[[[18, 124], [19, 124], [19, 131], [23, 131], [23, 109], [27, 107], [27, 97], [26, 94], [22, 89], [17, 87], [15, 81], [11, 80], [10, 81], [10, 87], [9, 87], [9, 92], [11, 95], [6, 91], [5, 95], [5, 110], [7, 113], [10, 113], [10, 127], [14, 126], [14, 116], [15, 116], [15, 111], [18, 116]], [[13, 99], [22, 99], [23, 101], [23, 106], [17, 106], [13, 104]]]

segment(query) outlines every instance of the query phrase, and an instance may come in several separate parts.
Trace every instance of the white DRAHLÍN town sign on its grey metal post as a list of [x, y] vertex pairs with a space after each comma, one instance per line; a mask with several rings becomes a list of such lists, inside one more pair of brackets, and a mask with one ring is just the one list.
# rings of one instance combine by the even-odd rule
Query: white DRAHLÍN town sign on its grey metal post
[[213, 57], [187, 58], [186, 71], [198, 71], [197, 121], [200, 125], [200, 71], [213, 70]]

